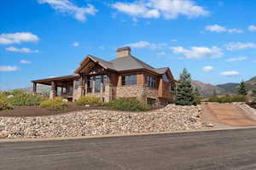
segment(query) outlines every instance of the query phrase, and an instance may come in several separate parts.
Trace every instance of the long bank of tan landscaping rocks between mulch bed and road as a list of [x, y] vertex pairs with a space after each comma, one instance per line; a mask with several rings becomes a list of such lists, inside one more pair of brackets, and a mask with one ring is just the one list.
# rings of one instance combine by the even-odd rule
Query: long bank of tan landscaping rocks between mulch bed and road
[[205, 127], [201, 111], [201, 105], [167, 105], [147, 112], [90, 110], [55, 116], [0, 117], [4, 131], [0, 135], [31, 139], [198, 129]]

